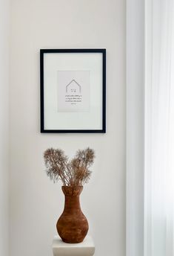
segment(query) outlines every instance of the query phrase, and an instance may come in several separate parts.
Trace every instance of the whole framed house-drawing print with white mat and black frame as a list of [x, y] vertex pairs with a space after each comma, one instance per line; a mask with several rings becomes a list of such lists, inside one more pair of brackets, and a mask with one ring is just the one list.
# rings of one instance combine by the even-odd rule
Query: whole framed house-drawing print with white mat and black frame
[[106, 49], [41, 49], [41, 132], [106, 132]]

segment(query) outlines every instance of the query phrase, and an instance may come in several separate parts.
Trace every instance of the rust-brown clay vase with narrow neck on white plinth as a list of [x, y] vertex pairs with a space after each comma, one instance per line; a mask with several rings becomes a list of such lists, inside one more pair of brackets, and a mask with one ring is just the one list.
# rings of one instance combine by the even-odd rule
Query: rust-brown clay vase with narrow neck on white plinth
[[64, 211], [59, 217], [56, 228], [65, 243], [81, 243], [87, 235], [87, 218], [81, 211], [79, 196], [83, 186], [62, 186], [64, 192]]

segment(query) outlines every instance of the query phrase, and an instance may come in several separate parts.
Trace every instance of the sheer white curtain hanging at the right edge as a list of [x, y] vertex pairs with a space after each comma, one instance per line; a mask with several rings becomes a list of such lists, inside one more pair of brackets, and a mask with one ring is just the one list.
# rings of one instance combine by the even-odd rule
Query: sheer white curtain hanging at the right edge
[[144, 256], [174, 255], [174, 1], [145, 1]]

